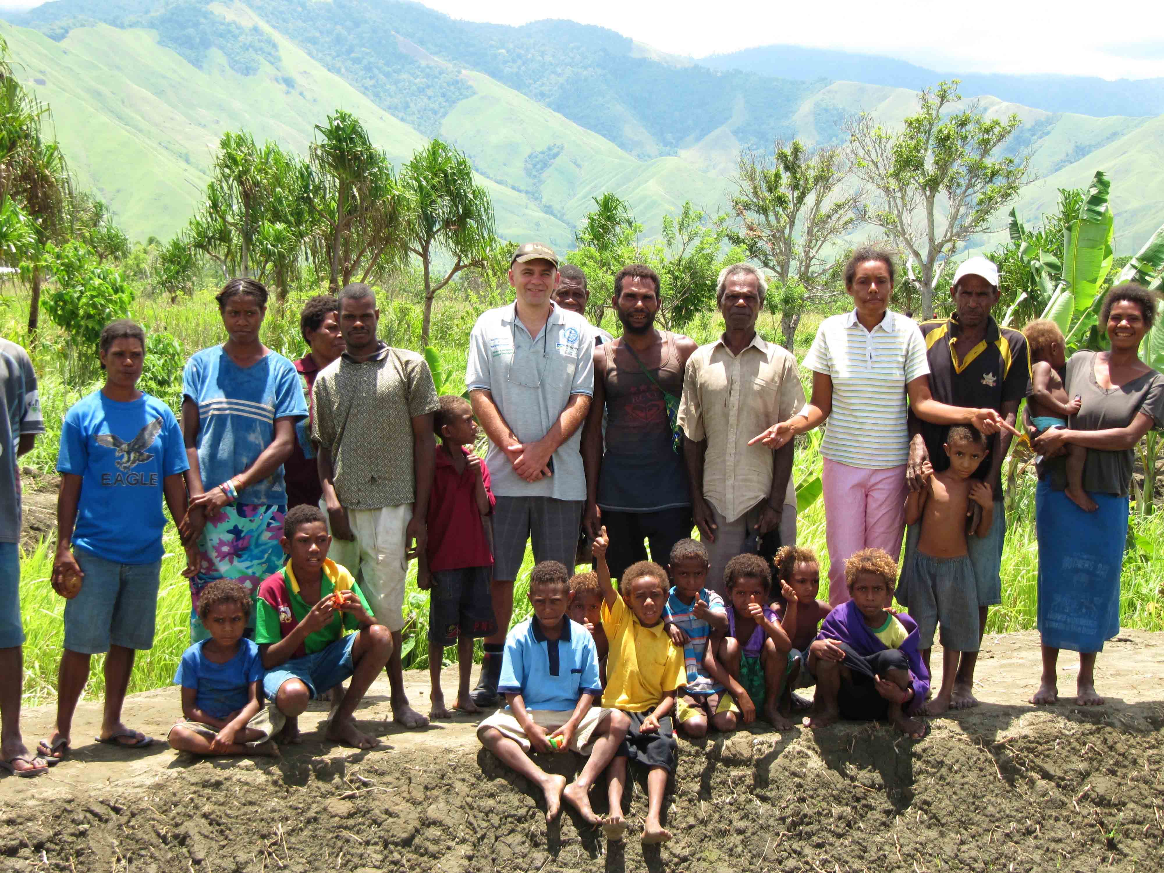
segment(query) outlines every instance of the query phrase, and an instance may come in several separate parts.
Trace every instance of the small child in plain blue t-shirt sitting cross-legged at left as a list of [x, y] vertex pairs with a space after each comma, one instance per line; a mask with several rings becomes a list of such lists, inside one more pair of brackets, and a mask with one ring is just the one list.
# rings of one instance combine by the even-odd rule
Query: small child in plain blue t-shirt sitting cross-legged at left
[[263, 661], [258, 646], [242, 634], [250, 596], [232, 580], [203, 589], [198, 617], [210, 639], [182, 655], [173, 683], [182, 686], [184, 719], [170, 729], [172, 748], [193, 754], [277, 757], [271, 739], [283, 729], [274, 707], [263, 705]]

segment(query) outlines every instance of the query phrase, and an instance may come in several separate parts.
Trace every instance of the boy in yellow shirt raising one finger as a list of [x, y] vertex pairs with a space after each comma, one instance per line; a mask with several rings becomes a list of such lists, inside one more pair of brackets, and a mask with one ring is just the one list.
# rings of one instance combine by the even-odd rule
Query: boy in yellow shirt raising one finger
[[660, 817], [667, 778], [675, 769], [676, 743], [670, 714], [675, 708], [675, 691], [687, 681], [683, 653], [672, 644], [662, 622], [667, 572], [651, 561], [632, 563], [618, 583], [626, 592], [624, 598], [610, 581], [609, 545], [603, 527], [591, 546], [602, 585], [602, 626], [610, 640], [602, 702], [625, 712], [630, 726], [610, 762], [610, 814], [602, 826], [608, 839], [622, 839], [626, 832], [623, 786], [626, 783], [626, 761], [633, 758], [648, 768], [643, 843], [663, 843], [670, 839], [670, 831], [662, 826]]

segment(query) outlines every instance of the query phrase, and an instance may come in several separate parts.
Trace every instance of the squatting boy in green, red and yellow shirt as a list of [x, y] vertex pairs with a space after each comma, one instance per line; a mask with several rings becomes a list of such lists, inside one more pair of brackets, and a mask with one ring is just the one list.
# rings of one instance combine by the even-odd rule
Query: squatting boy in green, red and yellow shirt
[[392, 634], [372, 619], [352, 574], [327, 559], [332, 538], [318, 506], [288, 512], [282, 545], [286, 565], [258, 587], [255, 643], [267, 668], [263, 690], [286, 718], [283, 739], [298, 743], [307, 703], [350, 677], [332, 701], [327, 738], [356, 748], [379, 745], [359, 730], [355, 710], [388, 663]]

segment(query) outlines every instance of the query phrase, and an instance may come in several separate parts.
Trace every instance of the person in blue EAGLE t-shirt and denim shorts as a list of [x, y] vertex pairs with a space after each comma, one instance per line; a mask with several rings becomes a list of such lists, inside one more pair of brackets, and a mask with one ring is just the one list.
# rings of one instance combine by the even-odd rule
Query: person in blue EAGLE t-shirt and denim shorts
[[178, 420], [159, 399], [137, 390], [146, 332], [128, 319], [106, 325], [100, 355], [105, 385], [76, 403], [61, 427], [52, 588], [69, 602], [56, 728], [38, 746], [50, 765], [69, 753], [90, 659], [102, 652], [109, 654], [98, 741], [128, 748], [154, 741], [126, 728], [121, 704], [135, 652], [154, 645], [163, 497], [175, 524], [186, 513], [189, 463]]

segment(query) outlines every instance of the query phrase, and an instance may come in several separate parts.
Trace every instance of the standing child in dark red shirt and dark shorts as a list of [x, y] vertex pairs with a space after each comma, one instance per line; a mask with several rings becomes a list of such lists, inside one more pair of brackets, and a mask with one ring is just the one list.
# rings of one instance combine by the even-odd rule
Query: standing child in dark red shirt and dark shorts
[[489, 468], [464, 446], [477, 439], [473, 407], [461, 397], [443, 396], [433, 414], [440, 436], [433, 485], [428, 497], [428, 545], [420, 556], [417, 587], [428, 590], [428, 676], [432, 681], [430, 718], [450, 718], [440, 687], [445, 647], [456, 644], [460, 683], [456, 705], [462, 712], [481, 710], [469, 697], [473, 640], [497, 631], [489, 585], [494, 553], [489, 516], [494, 492]]

